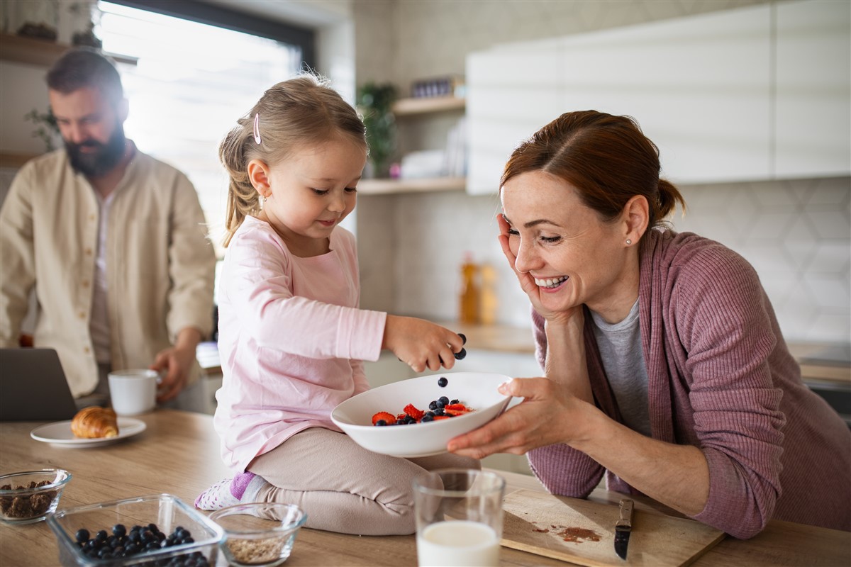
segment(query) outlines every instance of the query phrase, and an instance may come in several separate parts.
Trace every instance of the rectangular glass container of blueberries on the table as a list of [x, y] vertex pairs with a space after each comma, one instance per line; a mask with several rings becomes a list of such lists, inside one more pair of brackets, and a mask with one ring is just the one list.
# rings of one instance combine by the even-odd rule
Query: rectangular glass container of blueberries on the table
[[62, 509], [48, 524], [65, 567], [209, 567], [224, 536], [219, 525], [169, 494]]

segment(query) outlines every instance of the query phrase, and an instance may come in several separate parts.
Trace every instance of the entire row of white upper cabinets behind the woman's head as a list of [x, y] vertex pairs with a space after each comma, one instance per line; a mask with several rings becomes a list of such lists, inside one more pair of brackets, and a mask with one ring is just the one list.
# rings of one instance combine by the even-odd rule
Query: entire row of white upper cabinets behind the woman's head
[[848, 26], [848, 2], [767, 3], [470, 54], [467, 189], [589, 109], [633, 116], [674, 183], [851, 173]]

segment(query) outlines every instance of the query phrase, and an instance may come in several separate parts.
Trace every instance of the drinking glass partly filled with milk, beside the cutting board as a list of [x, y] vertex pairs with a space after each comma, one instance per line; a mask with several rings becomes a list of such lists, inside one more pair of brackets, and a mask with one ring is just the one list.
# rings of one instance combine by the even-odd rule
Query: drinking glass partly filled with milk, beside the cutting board
[[420, 567], [500, 564], [505, 479], [495, 473], [443, 468], [414, 479]]

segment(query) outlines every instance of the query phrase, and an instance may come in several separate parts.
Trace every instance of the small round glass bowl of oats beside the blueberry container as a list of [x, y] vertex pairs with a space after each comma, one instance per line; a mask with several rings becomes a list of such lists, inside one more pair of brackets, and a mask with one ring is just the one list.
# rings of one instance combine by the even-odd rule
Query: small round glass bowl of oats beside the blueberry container
[[216, 510], [209, 519], [225, 530], [220, 547], [229, 564], [274, 567], [293, 551], [307, 514], [294, 504], [251, 502]]

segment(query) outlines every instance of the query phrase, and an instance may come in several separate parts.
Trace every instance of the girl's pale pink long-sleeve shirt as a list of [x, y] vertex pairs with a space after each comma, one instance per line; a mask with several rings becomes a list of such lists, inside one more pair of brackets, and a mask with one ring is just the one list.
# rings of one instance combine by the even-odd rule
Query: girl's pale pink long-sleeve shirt
[[234, 472], [311, 427], [340, 431], [331, 411], [367, 390], [386, 313], [358, 309], [357, 248], [337, 227], [331, 251], [298, 258], [271, 226], [248, 217], [219, 282], [223, 374], [214, 426]]

